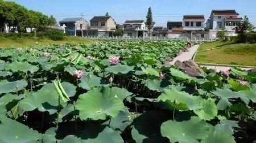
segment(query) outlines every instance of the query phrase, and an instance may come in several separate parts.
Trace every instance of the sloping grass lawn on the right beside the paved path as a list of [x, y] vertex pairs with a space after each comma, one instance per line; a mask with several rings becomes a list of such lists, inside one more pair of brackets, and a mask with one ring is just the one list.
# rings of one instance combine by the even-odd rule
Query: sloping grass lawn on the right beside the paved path
[[196, 62], [256, 66], [256, 44], [215, 41], [200, 46]]

